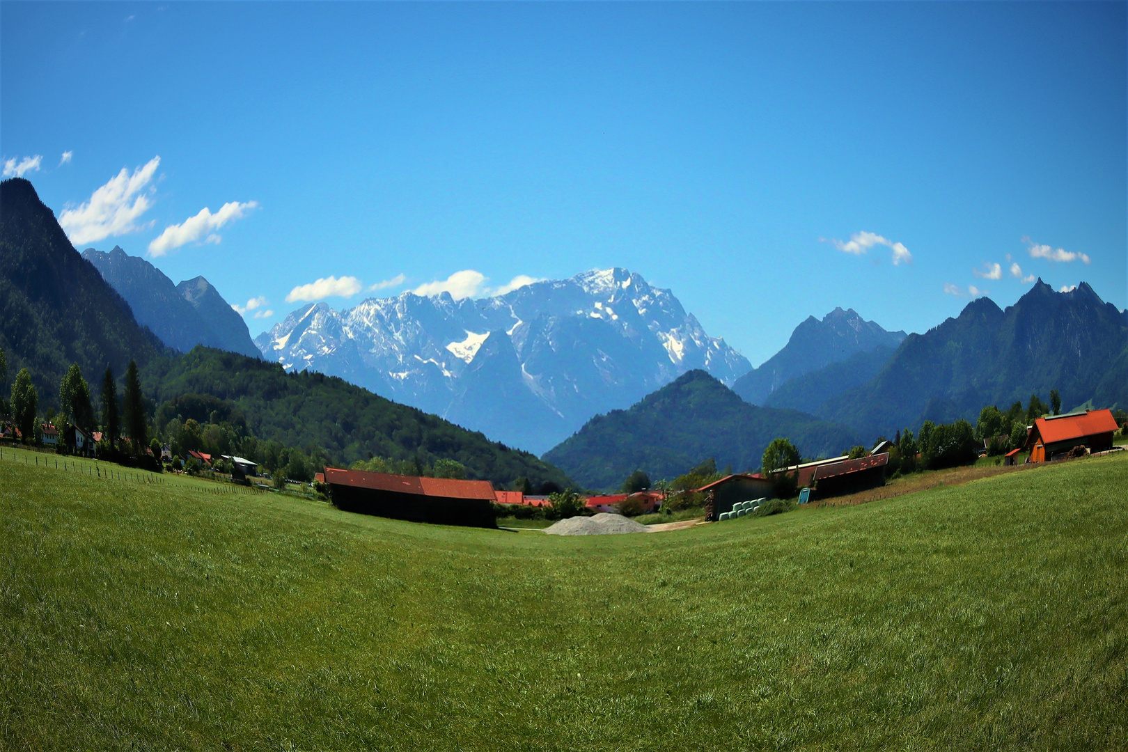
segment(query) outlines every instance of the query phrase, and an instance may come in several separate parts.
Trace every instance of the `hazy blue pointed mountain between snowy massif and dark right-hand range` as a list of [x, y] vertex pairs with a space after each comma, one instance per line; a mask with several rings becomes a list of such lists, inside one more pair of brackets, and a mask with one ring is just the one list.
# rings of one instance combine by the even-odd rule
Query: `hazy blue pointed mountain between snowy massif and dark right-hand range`
[[[768, 395], [792, 379], [845, 361], [855, 353], [896, 348], [902, 339], [904, 331], [885, 331], [878, 324], [862, 319], [854, 309], [836, 308], [821, 321], [809, 316], [795, 327], [783, 350], [737, 379], [732, 390], [752, 405], [766, 405]], [[828, 397], [829, 393], [818, 401]]]

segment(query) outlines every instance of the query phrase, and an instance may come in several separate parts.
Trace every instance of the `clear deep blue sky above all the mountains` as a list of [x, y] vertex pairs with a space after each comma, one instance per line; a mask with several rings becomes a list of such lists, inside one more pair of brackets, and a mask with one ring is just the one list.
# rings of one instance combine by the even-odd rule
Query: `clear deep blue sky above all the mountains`
[[0, 150], [79, 249], [203, 274], [257, 303], [253, 335], [325, 293], [625, 266], [758, 364], [836, 306], [924, 331], [1030, 275], [1128, 306], [1126, 27], [1126, 3], [6, 2]]

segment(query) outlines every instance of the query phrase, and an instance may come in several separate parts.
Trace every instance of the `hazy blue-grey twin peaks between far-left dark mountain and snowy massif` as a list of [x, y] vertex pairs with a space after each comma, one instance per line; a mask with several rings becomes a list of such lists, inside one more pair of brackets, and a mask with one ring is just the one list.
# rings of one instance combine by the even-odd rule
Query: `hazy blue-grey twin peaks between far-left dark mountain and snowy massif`
[[243, 317], [202, 276], [174, 285], [164, 272], [118, 246], [109, 253], [87, 248], [82, 258], [125, 299], [138, 324], [169, 347], [186, 353], [204, 345], [258, 357]]

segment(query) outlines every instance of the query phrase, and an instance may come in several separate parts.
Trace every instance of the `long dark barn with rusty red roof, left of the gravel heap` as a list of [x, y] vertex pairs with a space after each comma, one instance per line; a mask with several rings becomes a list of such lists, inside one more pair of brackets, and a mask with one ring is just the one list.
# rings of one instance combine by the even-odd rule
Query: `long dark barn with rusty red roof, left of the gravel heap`
[[325, 468], [337, 508], [394, 520], [495, 528], [497, 498], [488, 480], [418, 478], [389, 472]]

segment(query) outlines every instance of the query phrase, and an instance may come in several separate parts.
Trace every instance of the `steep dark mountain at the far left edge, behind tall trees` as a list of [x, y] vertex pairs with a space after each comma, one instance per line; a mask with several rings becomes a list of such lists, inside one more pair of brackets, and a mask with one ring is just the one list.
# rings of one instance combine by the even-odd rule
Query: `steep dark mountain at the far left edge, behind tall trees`
[[41, 405], [58, 402], [71, 363], [97, 384], [106, 365], [121, 375], [130, 359], [147, 363], [165, 352], [24, 178], [0, 184], [0, 348], [9, 382], [26, 366]]

